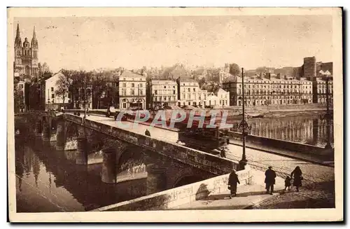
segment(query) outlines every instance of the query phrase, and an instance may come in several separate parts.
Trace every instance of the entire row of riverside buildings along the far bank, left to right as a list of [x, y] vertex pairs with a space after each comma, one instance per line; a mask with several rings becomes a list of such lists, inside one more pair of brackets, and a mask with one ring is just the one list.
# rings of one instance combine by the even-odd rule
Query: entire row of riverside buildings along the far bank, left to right
[[[332, 103], [332, 79], [329, 71], [321, 72], [321, 77], [313, 78], [287, 78], [273, 77], [265, 74], [262, 78], [245, 77], [244, 88], [242, 78], [233, 76], [229, 81], [222, 83], [222, 88], [213, 92], [202, 90], [199, 83], [191, 78], [177, 78], [176, 80], [146, 80], [145, 75], [123, 71], [113, 80], [113, 87], [118, 92], [114, 106], [118, 109], [161, 109], [165, 105], [196, 106], [200, 108], [223, 108], [227, 106], [241, 106], [242, 94], [246, 106], [273, 106], [288, 104], [325, 104], [328, 95]], [[57, 81], [61, 72], [50, 78], [41, 80], [33, 87], [20, 81], [18, 87], [25, 94], [26, 88], [30, 90], [28, 102], [36, 109], [84, 108], [92, 109], [94, 106], [92, 87], [78, 88], [72, 98], [70, 93], [57, 95]], [[328, 85], [327, 85], [328, 84]], [[87, 95], [85, 99], [85, 95]], [[104, 94], [103, 94], [104, 96]], [[69, 106], [71, 104], [71, 106]]]

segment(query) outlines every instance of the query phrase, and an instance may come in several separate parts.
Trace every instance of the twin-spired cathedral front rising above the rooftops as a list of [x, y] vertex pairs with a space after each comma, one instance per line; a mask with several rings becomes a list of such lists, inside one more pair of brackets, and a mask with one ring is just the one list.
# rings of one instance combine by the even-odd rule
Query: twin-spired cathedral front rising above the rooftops
[[35, 27], [31, 43], [29, 43], [27, 37], [22, 43], [20, 25], [17, 25], [13, 71], [14, 75], [18, 76], [38, 76], [38, 40], [36, 39]]

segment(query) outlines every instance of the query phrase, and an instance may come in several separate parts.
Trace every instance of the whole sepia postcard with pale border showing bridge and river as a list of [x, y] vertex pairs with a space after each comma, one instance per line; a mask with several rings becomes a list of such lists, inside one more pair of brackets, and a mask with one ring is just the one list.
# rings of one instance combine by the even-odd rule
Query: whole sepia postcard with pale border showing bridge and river
[[8, 8], [10, 222], [344, 221], [342, 8]]

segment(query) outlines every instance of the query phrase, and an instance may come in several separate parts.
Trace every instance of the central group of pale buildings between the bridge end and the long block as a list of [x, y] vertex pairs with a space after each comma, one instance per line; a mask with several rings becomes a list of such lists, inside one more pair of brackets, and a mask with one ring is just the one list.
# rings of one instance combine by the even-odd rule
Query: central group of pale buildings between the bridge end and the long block
[[221, 88], [216, 92], [201, 90], [197, 81], [191, 78], [150, 80], [146, 83], [146, 76], [123, 71], [118, 82], [119, 109], [160, 109], [165, 105], [202, 108], [229, 106], [229, 92]]

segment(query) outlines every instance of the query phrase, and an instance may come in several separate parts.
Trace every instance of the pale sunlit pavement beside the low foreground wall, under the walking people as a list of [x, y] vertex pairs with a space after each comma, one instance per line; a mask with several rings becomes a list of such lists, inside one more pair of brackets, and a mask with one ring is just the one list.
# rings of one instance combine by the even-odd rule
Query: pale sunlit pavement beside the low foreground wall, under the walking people
[[[260, 202], [270, 200], [284, 189], [283, 179], [281, 177], [276, 178], [276, 185], [274, 186], [273, 195], [266, 194], [265, 190], [265, 174], [263, 172], [253, 172], [253, 183], [250, 185], [238, 186], [237, 196], [230, 199], [230, 190], [224, 190], [221, 193], [210, 193], [206, 200], [196, 200], [174, 207], [174, 210], [193, 210], [193, 209], [246, 209], [248, 207], [254, 207]], [[173, 210], [172, 209], [172, 210]]]

